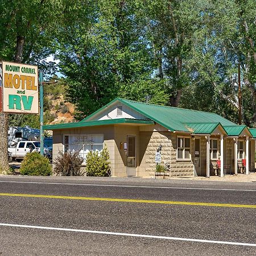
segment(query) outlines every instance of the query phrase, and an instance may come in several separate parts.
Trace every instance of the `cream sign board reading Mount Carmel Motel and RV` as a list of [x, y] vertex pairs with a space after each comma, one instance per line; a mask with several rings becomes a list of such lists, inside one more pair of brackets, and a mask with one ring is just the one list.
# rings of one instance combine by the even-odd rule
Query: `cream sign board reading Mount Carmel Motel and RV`
[[2, 62], [2, 110], [38, 114], [38, 67]]

